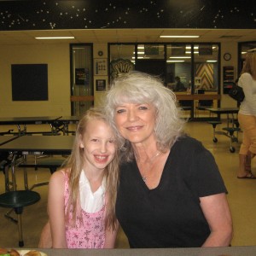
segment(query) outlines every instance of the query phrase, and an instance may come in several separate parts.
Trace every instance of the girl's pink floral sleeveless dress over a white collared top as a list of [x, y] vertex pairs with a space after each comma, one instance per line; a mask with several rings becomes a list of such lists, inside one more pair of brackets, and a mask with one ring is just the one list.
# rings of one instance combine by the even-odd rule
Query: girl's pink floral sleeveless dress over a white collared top
[[[69, 198], [68, 177], [64, 174], [65, 180], [65, 212], [67, 211], [67, 201]], [[76, 226], [66, 224], [66, 238], [68, 248], [103, 248], [105, 244], [105, 205], [98, 212], [85, 212], [81, 209], [82, 222], [79, 218]], [[69, 218], [72, 218], [70, 213]]]

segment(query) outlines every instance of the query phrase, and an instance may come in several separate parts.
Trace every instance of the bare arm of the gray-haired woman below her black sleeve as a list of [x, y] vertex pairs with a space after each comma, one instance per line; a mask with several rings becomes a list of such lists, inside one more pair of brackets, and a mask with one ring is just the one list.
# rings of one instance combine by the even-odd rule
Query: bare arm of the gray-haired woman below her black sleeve
[[228, 247], [233, 228], [230, 207], [224, 193], [201, 197], [201, 209], [209, 224], [211, 234], [202, 247]]

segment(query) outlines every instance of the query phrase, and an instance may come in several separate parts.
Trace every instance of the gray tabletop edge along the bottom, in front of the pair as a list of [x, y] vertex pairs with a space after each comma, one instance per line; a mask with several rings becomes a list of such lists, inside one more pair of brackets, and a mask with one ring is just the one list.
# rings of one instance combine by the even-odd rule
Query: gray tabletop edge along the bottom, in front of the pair
[[204, 248], [168, 248], [168, 249], [40, 249], [48, 256], [255, 256], [256, 247], [204, 247]]

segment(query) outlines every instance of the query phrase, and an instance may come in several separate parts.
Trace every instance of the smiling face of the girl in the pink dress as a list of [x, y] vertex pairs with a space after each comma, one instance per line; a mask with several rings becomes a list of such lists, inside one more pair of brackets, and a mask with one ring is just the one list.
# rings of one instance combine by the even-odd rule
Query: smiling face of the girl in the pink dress
[[103, 120], [91, 120], [80, 139], [80, 148], [84, 148], [84, 168], [103, 170], [113, 160], [116, 150], [113, 131]]

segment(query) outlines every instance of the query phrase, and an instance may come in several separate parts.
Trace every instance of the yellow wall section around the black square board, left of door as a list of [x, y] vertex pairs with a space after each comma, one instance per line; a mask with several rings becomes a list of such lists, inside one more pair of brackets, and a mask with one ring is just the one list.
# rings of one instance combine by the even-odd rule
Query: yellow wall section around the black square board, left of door
[[[0, 48], [0, 116], [70, 115], [69, 44]], [[12, 102], [11, 64], [48, 64], [49, 101]]]

